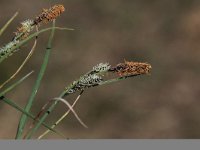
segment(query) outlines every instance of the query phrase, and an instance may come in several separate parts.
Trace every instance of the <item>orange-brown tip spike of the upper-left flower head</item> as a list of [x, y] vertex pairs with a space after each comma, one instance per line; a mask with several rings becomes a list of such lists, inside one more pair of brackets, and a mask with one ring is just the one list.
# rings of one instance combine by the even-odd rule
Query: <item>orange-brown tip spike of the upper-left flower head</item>
[[54, 5], [50, 9], [43, 9], [42, 13], [35, 18], [34, 24], [37, 25], [40, 22], [48, 23], [60, 16], [64, 11], [65, 7], [63, 5]]

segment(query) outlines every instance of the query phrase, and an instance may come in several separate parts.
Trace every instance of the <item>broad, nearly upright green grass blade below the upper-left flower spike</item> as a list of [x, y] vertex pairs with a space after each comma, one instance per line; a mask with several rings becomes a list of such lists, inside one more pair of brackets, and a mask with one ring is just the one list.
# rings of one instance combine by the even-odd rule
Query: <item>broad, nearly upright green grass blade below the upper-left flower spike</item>
[[[53, 22], [53, 27], [55, 27], [55, 21]], [[49, 61], [49, 56], [50, 56], [50, 53], [51, 53], [51, 45], [52, 45], [52, 40], [53, 40], [54, 33], [55, 33], [55, 29], [52, 28], [52, 32], [51, 32], [51, 35], [49, 37], [49, 41], [48, 41], [48, 44], [47, 44], [44, 60], [43, 60], [43, 63], [41, 65], [41, 68], [40, 68], [40, 72], [38, 74], [36, 83], [35, 83], [35, 85], [33, 87], [32, 92], [31, 92], [31, 96], [30, 96], [30, 98], [28, 100], [28, 103], [27, 103], [27, 105], [25, 107], [25, 111], [27, 111], [27, 112], [29, 112], [29, 110], [30, 110], [30, 108], [31, 108], [31, 106], [33, 104], [33, 101], [34, 101], [35, 96], [37, 94], [37, 91], [39, 89], [41, 80], [42, 80], [42, 78], [44, 76], [44, 73], [45, 73], [45, 70], [47, 68], [47, 64], [48, 64], [48, 61]], [[26, 115], [22, 115], [22, 117], [20, 119], [20, 122], [19, 122], [19, 125], [18, 125], [18, 130], [17, 130], [17, 135], [16, 135], [17, 139], [22, 138], [22, 132], [24, 130], [26, 121], [27, 121], [27, 116]]]

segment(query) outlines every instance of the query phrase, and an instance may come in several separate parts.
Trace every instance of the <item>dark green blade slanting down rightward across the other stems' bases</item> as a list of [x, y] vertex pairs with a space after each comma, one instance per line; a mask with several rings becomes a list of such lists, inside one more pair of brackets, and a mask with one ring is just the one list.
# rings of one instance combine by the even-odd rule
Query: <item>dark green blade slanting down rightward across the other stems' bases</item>
[[[14, 103], [13, 101], [11, 101], [10, 99], [5, 98], [5, 97], [2, 97], [1, 100], [4, 101], [6, 104], [12, 106], [12, 107], [15, 108], [16, 110], [18, 110], [18, 111], [24, 113], [25, 115], [27, 115], [27, 116], [30, 117], [31, 119], [34, 119], [34, 118], [35, 118], [35, 116], [33, 116], [33, 115], [32, 115], [31, 113], [29, 113], [29, 112], [26, 112], [24, 109], [22, 109], [21, 107], [19, 107], [16, 103]], [[36, 121], [39, 121], [39, 119], [37, 119]], [[43, 125], [45, 128], [51, 130], [52, 132], [54, 132], [54, 133], [60, 135], [61, 137], [64, 137], [64, 138], [65, 138], [65, 136], [64, 136], [62, 133], [60, 133], [60, 132], [56, 131], [55, 129], [51, 128], [51, 127], [48, 126], [46, 123], [43, 122], [42, 125]]]

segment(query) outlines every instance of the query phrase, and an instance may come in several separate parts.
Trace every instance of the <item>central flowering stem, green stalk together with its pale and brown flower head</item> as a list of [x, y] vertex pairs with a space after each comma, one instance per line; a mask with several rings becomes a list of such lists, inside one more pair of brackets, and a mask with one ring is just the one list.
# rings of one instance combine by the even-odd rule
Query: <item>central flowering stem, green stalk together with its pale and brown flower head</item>
[[[114, 66], [112, 68], [108, 64], [107, 65], [101, 64], [99, 66], [100, 67], [103, 66], [103, 67], [100, 70], [99, 69], [95, 70], [94, 68], [96, 67], [94, 67], [91, 71], [89, 71], [85, 75], [81, 76], [78, 80], [74, 81], [72, 84], [67, 86], [58, 98], [63, 98], [69, 94], [72, 94], [76, 91], [82, 91], [86, 88], [117, 82], [120, 80], [124, 80], [128, 77], [133, 77], [133, 76], [137, 76], [141, 74], [148, 74], [151, 69], [151, 65], [147, 63], [137, 63], [137, 62], [120, 63], [119, 65]], [[106, 73], [106, 72], [111, 72], [111, 73], [116, 72], [120, 77], [103, 81], [100, 76], [102, 76], [103, 73]], [[56, 107], [57, 103], [58, 101], [55, 101], [54, 103], [52, 103], [52, 105], [48, 108], [46, 113], [41, 117], [40, 122], [38, 122], [35, 125], [35, 127], [30, 131], [29, 135], [27, 136], [28, 139], [30, 139], [33, 133], [37, 131], [41, 123]]]

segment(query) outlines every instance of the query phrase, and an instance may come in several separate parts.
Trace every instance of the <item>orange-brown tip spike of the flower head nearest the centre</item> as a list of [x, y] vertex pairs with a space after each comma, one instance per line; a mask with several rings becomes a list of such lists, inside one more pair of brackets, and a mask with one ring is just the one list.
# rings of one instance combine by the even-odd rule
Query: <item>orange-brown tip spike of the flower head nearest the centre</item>
[[119, 76], [132, 76], [148, 74], [151, 68], [151, 65], [148, 63], [125, 61], [124, 63], [112, 67], [110, 71], [117, 72]]

